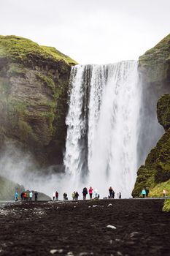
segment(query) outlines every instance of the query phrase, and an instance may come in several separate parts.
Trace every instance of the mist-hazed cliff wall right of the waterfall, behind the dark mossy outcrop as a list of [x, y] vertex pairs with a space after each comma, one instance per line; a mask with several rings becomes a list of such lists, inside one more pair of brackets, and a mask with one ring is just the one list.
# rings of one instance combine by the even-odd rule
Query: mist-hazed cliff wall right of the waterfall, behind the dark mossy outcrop
[[139, 135], [141, 165], [163, 135], [163, 128], [158, 125], [156, 106], [163, 94], [170, 93], [170, 34], [139, 57], [139, 74], [142, 83], [142, 127]]

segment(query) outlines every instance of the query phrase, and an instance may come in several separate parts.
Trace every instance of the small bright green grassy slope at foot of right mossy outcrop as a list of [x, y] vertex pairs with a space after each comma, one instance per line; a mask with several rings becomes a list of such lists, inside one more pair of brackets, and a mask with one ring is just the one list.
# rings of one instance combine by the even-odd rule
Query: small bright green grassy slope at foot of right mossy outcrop
[[150, 197], [163, 197], [163, 189], [166, 189], [166, 195], [170, 196], [170, 180], [159, 183], [150, 189]]

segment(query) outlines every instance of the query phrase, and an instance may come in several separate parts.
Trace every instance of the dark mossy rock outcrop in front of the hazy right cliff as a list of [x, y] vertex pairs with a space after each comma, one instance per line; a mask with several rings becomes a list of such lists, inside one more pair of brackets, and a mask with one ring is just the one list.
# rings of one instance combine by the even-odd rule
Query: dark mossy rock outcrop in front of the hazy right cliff
[[142, 165], [136, 178], [136, 184], [132, 192], [133, 197], [139, 196], [143, 187], [150, 187], [151, 196], [161, 196], [162, 190], [170, 189], [170, 94], [165, 94], [158, 100], [158, 121], [166, 132], [158, 140], [155, 148], [152, 148]]

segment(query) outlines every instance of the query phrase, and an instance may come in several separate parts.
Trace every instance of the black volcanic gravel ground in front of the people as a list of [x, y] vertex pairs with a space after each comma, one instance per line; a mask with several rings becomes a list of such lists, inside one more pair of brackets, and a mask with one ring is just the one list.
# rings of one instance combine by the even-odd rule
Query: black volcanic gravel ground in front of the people
[[170, 213], [162, 206], [151, 199], [0, 205], [0, 256], [168, 256]]

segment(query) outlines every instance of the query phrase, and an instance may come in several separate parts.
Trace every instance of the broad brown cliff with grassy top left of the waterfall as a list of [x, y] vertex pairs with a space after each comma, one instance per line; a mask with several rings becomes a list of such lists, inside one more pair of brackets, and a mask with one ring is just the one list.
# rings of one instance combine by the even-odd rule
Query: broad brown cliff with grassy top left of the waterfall
[[62, 164], [71, 65], [55, 48], [0, 36], [0, 148], [31, 152], [41, 166]]

